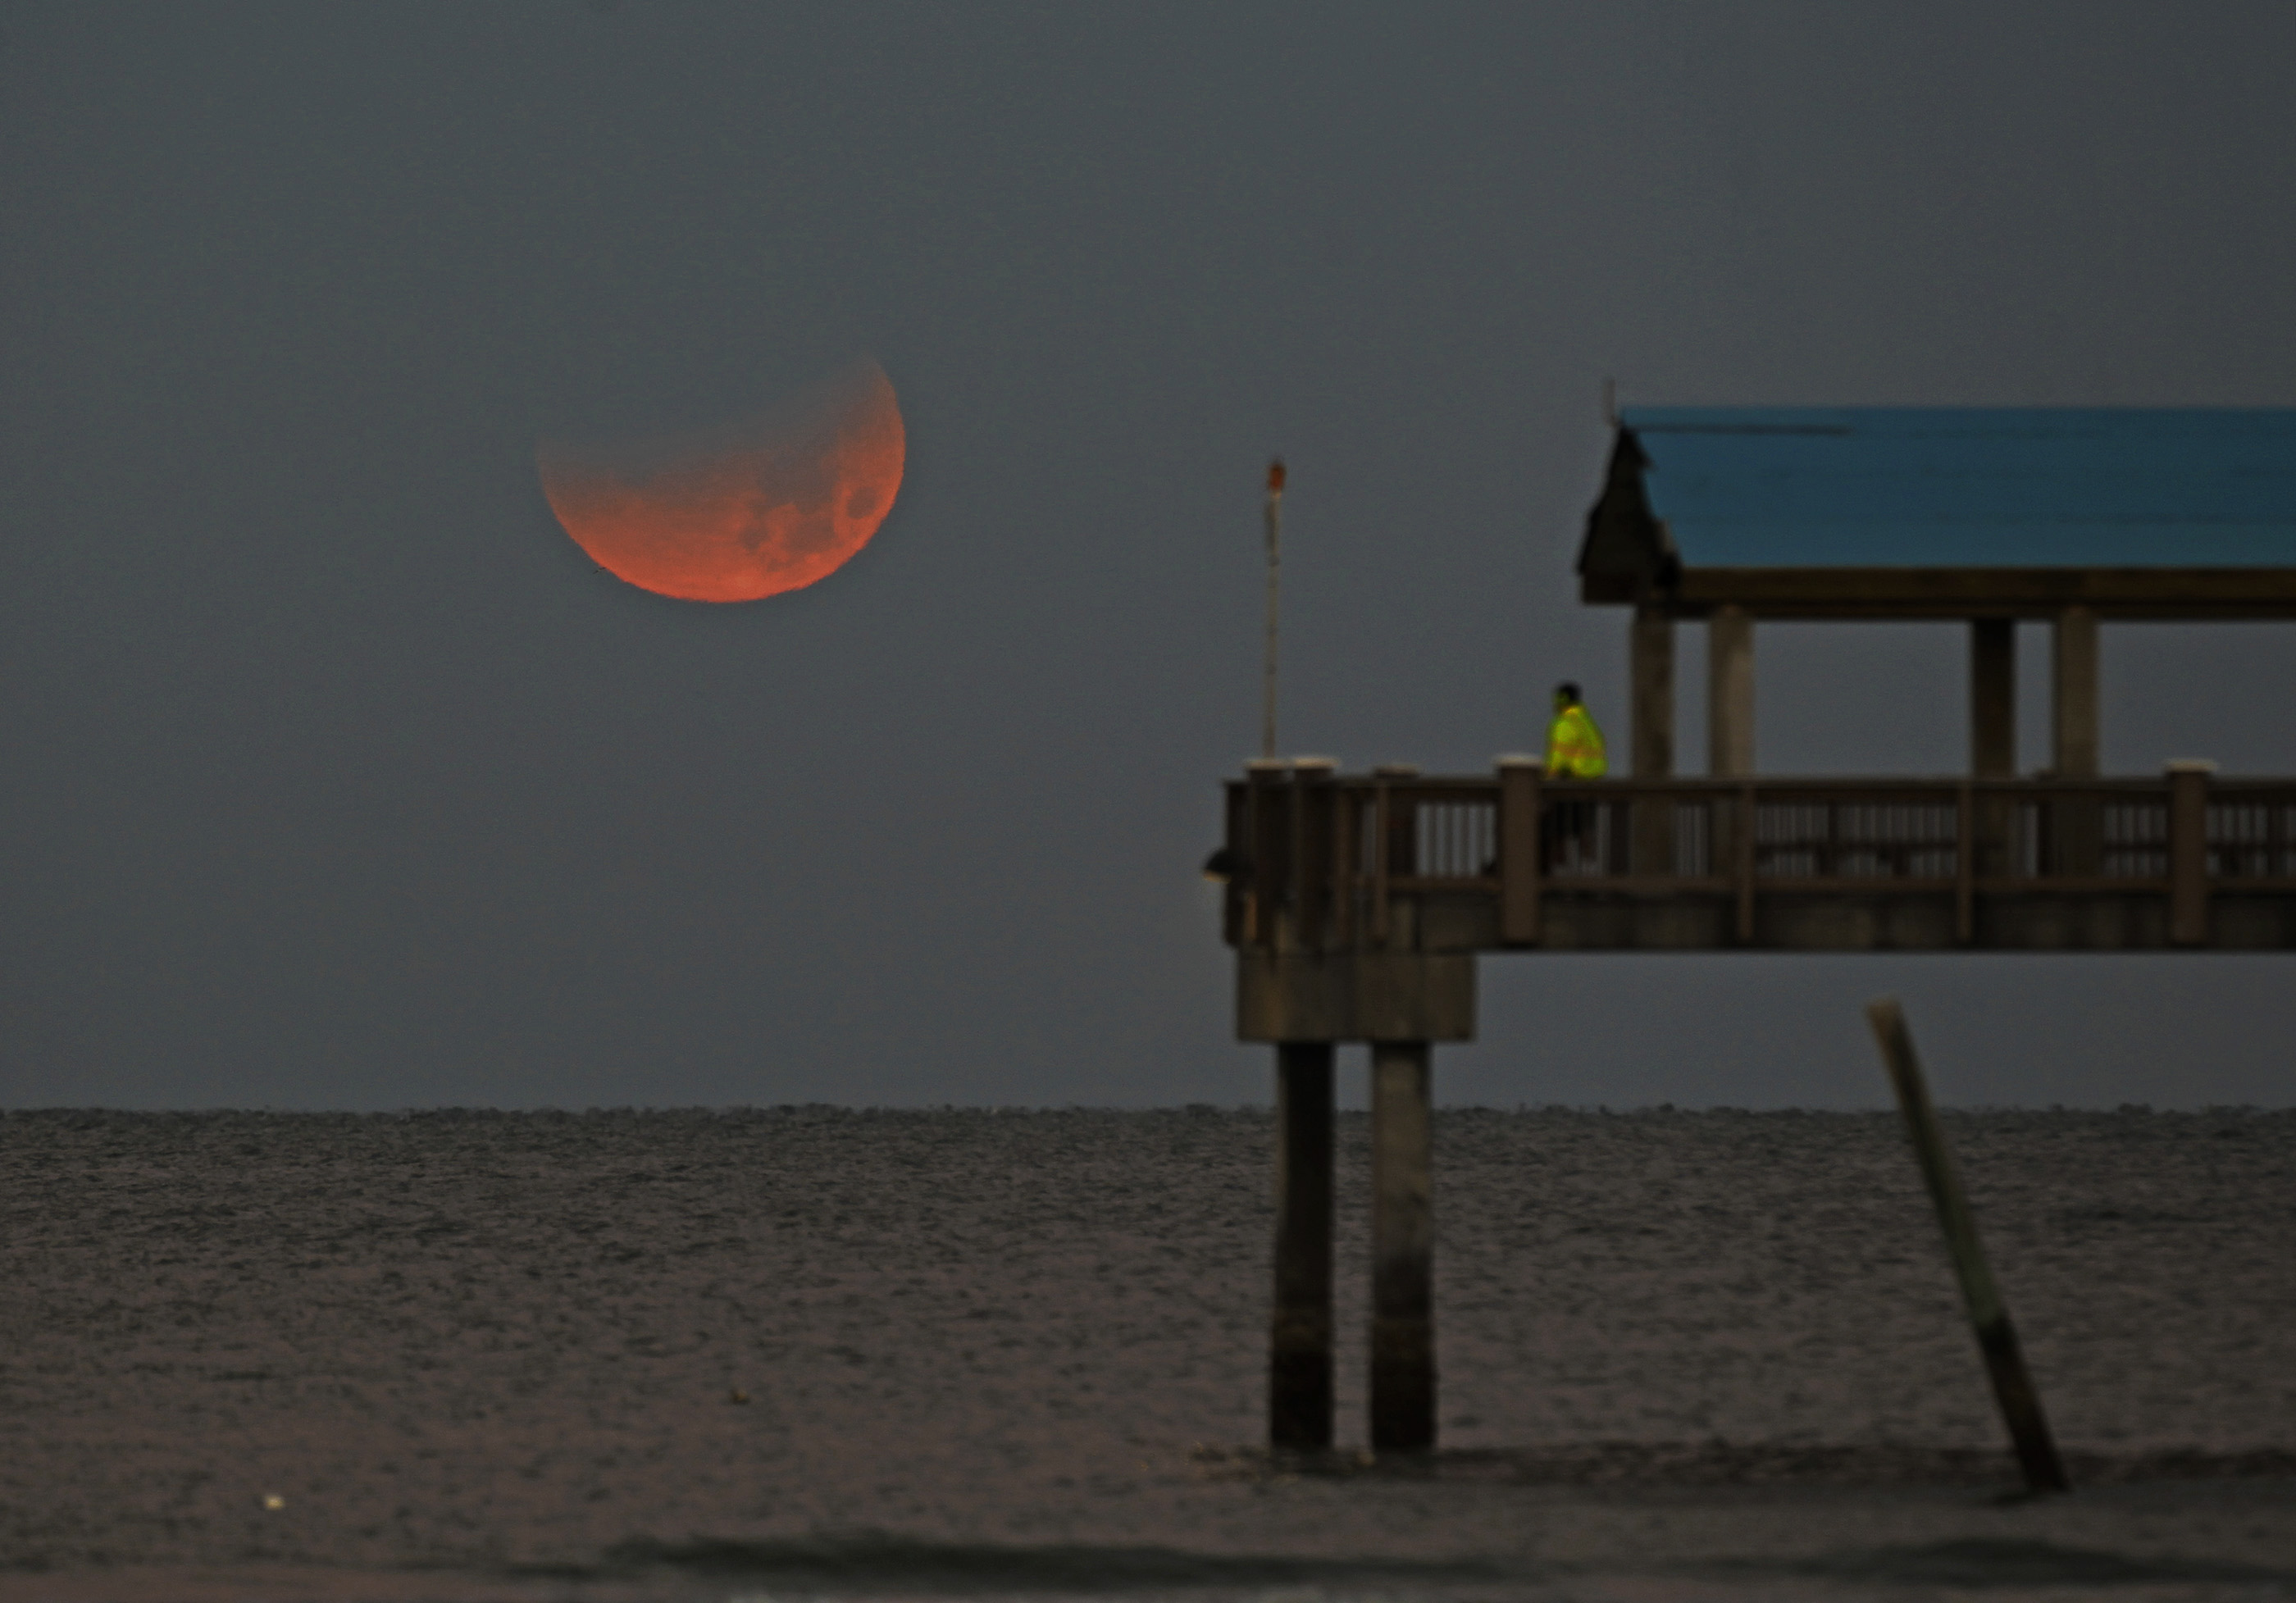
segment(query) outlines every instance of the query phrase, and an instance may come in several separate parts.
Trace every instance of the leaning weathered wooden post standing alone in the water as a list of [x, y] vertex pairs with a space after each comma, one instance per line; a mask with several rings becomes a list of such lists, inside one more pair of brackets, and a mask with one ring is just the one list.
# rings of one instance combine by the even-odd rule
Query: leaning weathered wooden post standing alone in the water
[[1970, 1213], [1970, 1199], [1961, 1190], [1961, 1171], [1954, 1167], [1954, 1151], [1945, 1144], [1945, 1130], [1938, 1125], [1938, 1109], [1929, 1102], [1929, 1084], [1913, 1054], [1906, 1010], [1896, 1006], [1894, 997], [1883, 997], [1867, 1006], [1867, 1020], [1874, 1024], [1874, 1040], [1880, 1043], [1880, 1059], [1890, 1070], [1892, 1089], [1896, 1089], [1899, 1112], [1906, 1114], [1906, 1135], [1913, 1137], [1922, 1183], [1929, 1185], [1929, 1199], [1938, 1206], [1945, 1252], [1954, 1261], [1961, 1302], [1970, 1309], [1977, 1350], [1984, 1353], [1986, 1373], [1993, 1378], [1993, 1401], [2000, 1403], [2002, 1422], [2009, 1426], [2016, 1461], [2025, 1470], [2025, 1486], [2037, 1493], [2062, 1493], [2069, 1488], [2064, 1463], [2048, 1433], [2041, 1394], [2034, 1392], [2032, 1376], [2025, 1373], [2025, 1353], [2018, 1348], [2000, 1286], [1993, 1284], [1986, 1249], [1977, 1240], [1977, 1215]]

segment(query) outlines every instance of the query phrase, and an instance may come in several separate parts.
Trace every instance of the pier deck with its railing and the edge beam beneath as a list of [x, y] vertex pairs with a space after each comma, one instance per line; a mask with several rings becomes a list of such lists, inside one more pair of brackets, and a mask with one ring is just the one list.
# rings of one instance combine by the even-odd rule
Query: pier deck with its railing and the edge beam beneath
[[1228, 783], [1238, 951], [2296, 948], [2296, 779]]

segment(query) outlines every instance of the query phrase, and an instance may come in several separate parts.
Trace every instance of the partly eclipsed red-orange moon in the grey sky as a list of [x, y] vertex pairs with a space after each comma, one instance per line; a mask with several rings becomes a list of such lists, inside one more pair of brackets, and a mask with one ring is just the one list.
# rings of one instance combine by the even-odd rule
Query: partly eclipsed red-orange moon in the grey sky
[[551, 512], [615, 579], [682, 602], [755, 602], [852, 560], [893, 510], [907, 450], [893, 381], [863, 363], [709, 436], [546, 443], [535, 466]]

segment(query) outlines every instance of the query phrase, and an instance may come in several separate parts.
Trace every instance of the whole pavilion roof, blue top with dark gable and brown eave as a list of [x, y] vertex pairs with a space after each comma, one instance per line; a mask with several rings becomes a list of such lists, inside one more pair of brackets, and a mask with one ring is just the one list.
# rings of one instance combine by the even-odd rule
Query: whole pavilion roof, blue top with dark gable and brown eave
[[2296, 615], [2296, 409], [1635, 406], [1589, 602]]

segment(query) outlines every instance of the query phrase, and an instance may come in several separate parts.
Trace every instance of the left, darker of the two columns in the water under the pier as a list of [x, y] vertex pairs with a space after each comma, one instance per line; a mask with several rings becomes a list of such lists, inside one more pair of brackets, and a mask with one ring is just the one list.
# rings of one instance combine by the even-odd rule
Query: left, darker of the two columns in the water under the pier
[[1332, 1043], [1277, 1045], [1277, 1304], [1267, 1445], [1332, 1445]]

